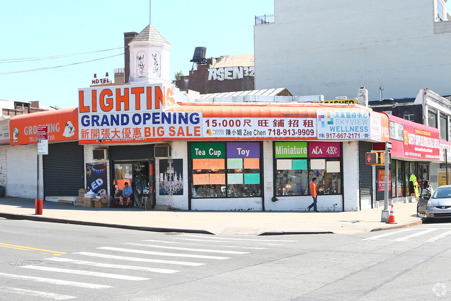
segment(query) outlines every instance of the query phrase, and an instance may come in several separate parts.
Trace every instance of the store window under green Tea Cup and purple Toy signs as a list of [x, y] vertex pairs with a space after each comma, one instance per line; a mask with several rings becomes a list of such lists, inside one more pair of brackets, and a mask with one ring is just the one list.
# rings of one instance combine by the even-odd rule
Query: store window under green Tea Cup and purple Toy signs
[[260, 142], [191, 143], [192, 197], [261, 196]]

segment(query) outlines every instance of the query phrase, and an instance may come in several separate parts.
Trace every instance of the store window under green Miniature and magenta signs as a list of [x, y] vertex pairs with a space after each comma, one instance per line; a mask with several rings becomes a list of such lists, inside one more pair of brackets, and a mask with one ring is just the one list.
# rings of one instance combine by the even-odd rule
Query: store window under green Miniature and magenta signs
[[275, 142], [276, 196], [310, 195], [317, 178], [318, 195], [341, 194], [340, 142]]

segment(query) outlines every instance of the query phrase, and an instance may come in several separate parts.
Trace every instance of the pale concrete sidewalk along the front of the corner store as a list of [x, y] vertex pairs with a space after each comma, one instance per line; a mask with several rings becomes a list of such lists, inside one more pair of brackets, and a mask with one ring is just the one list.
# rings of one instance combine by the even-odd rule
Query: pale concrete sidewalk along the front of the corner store
[[422, 223], [417, 203], [395, 204], [397, 224], [380, 222], [382, 208], [347, 212], [166, 211], [142, 208], [89, 208], [43, 203], [35, 214], [31, 199], [0, 198], [0, 217], [159, 232], [221, 235], [357, 234]]

